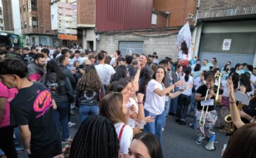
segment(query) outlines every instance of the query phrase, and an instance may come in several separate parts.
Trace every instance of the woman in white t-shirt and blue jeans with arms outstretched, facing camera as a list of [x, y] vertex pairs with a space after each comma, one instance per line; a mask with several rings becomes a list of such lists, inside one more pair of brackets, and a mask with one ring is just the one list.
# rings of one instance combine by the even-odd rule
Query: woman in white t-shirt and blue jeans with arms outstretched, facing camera
[[170, 93], [175, 86], [180, 86], [183, 81], [177, 81], [175, 84], [165, 88], [163, 81], [165, 81], [165, 68], [158, 67], [153, 74], [153, 79], [148, 82], [146, 88], [146, 101], [144, 104], [145, 116], [155, 117], [155, 122], [147, 123], [144, 126], [144, 131], [151, 132], [157, 136], [161, 142], [162, 126], [165, 119], [165, 95], [169, 93], [169, 97], [174, 98], [181, 94], [180, 91]]

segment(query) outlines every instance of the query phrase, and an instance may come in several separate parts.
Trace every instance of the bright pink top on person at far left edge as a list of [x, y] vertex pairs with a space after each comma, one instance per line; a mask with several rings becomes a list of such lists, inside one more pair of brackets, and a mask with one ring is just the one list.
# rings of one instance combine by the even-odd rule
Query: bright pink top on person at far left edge
[[13, 100], [16, 93], [18, 93], [18, 90], [16, 88], [8, 89], [0, 81], [0, 98], [7, 99], [3, 117], [0, 118], [0, 128], [10, 125], [10, 102], [11, 100]]

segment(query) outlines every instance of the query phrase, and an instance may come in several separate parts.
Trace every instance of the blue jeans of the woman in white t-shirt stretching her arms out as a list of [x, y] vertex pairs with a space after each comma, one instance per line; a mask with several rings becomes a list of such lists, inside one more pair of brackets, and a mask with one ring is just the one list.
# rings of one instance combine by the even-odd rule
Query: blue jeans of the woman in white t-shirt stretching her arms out
[[148, 117], [148, 116], [155, 117], [155, 122], [147, 123], [144, 126], [143, 131], [155, 134], [155, 136], [158, 138], [158, 141], [162, 143], [162, 126], [165, 120], [165, 112], [162, 112], [162, 114], [158, 114], [158, 115], [148, 112], [147, 110], [144, 110], [144, 112], [145, 112], [145, 117]]

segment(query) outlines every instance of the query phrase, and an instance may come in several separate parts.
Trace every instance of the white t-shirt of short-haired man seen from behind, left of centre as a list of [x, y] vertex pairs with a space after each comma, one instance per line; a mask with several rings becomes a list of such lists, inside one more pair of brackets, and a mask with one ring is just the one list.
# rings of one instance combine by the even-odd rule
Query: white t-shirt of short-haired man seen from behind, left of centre
[[102, 84], [109, 84], [110, 77], [112, 74], [115, 74], [115, 70], [112, 66], [108, 64], [98, 64], [95, 66], [98, 77], [100, 77]]

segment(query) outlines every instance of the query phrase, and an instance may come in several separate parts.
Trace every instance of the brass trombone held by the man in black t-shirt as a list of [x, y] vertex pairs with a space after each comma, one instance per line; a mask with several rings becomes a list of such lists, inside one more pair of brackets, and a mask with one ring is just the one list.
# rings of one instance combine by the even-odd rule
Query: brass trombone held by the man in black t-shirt
[[[218, 78], [218, 88], [217, 88], [217, 93], [216, 93], [216, 96], [215, 96], [215, 102], [218, 102], [218, 100], [219, 100], [219, 88], [220, 88], [220, 84], [221, 84], [220, 82], [222, 81], [222, 76], [221, 76], [221, 74], [216, 73], [215, 78]], [[210, 90], [210, 88], [207, 88], [205, 100], [207, 100], [209, 90]], [[213, 90], [214, 90], [214, 88], [213, 88]], [[205, 126], [205, 120], [206, 120], [206, 117], [207, 117], [208, 108], [209, 108], [209, 105], [206, 106], [206, 110], [205, 110], [205, 106], [203, 106], [203, 109], [202, 109], [201, 115], [200, 115], [200, 120], [199, 120], [200, 126]], [[204, 110], [205, 110], [205, 112], [204, 112]], [[205, 114], [205, 116], [203, 116], [203, 114]]]

